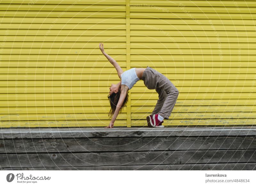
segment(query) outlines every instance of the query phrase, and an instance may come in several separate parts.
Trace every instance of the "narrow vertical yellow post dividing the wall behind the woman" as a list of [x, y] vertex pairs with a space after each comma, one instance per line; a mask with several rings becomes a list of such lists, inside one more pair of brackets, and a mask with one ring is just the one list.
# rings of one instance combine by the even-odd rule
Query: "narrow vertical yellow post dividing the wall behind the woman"
[[[131, 69], [131, 50], [130, 50], [130, 0], [126, 0], [126, 70]], [[127, 127], [131, 127], [131, 92], [129, 91], [127, 103]]]

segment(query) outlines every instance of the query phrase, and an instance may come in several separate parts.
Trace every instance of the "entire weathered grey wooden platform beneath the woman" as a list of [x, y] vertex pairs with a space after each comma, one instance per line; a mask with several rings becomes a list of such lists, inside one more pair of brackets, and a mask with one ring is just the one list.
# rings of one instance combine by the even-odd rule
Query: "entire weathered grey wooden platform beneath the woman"
[[1, 170], [256, 170], [256, 126], [0, 129]]

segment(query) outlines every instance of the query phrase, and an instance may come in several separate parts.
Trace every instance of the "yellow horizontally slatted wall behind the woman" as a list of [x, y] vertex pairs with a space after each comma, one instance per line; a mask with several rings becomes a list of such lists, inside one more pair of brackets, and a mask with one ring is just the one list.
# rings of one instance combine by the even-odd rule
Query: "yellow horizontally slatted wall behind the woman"
[[[1, 127], [106, 126], [109, 86], [150, 66], [180, 91], [164, 125], [253, 125], [255, 1], [0, 1]], [[144, 126], [138, 81], [115, 126]]]

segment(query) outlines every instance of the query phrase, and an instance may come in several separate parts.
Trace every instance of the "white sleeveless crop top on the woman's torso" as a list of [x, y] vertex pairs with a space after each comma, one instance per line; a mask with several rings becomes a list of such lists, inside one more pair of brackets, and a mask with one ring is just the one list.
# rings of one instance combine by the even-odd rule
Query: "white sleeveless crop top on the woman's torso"
[[124, 73], [121, 74], [121, 78], [121, 85], [127, 85], [129, 87], [129, 90], [131, 90], [135, 83], [140, 80], [135, 72], [135, 68], [124, 71]]

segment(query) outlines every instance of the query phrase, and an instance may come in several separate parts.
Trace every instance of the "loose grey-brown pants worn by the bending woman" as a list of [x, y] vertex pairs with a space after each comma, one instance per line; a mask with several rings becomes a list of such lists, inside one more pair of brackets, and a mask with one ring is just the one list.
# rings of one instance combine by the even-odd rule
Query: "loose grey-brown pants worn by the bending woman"
[[152, 115], [159, 114], [164, 119], [169, 119], [179, 95], [178, 89], [167, 77], [149, 66], [143, 72], [141, 79], [148, 89], [155, 89], [158, 93], [158, 100]]

